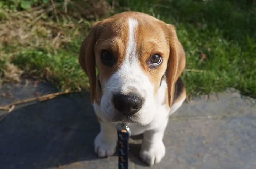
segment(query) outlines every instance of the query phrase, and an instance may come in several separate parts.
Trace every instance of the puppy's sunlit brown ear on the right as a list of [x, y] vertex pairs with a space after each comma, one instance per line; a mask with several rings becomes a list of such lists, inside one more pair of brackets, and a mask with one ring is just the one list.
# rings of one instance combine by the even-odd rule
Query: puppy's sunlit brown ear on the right
[[169, 107], [172, 106], [174, 99], [175, 83], [181, 72], [185, 68], [186, 56], [183, 47], [178, 40], [175, 27], [170, 24], [166, 24], [168, 29], [170, 54], [167, 67], [167, 84], [168, 84], [168, 103]]

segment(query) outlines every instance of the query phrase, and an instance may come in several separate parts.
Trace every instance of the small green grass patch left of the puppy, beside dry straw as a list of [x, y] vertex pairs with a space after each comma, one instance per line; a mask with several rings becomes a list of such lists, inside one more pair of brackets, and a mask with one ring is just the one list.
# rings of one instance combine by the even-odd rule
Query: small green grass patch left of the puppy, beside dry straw
[[36, 70], [31, 74], [46, 79], [61, 90], [80, 90], [88, 87], [88, 79], [78, 64], [78, 46], [63, 47], [57, 54], [42, 49], [28, 50], [18, 54], [12, 63], [27, 73]]

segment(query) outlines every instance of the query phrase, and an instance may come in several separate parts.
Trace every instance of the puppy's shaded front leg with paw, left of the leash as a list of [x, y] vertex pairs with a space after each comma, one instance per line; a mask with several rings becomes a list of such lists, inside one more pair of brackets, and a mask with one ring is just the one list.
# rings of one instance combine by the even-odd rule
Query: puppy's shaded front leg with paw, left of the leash
[[94, 151], [99, 157], [114, 155], [117, 145], [117, 130], [114, 124], [100, 121], [100, 133], [94, 140]]

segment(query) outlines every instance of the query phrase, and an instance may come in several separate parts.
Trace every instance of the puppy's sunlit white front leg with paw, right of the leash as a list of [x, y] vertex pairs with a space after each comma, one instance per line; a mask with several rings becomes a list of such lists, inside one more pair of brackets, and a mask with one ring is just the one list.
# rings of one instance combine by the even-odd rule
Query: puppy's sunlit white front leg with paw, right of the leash
[[143, 134], [140, 158], [149, 165], [159, 163], [165, 155], [165, 146], [162, 141], [168, 119], [162, 123], [161, 127], [148, 130]]

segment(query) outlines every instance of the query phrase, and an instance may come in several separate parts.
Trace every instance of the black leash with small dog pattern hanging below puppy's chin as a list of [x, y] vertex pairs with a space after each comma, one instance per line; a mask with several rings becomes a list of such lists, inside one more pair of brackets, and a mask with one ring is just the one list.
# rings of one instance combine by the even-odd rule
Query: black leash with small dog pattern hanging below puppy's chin
[[118, 124], [117, 135], [118, 135], [118, 169], [128, 169], [129, 137], [131, 135], [130, 128], [124, 123]]

